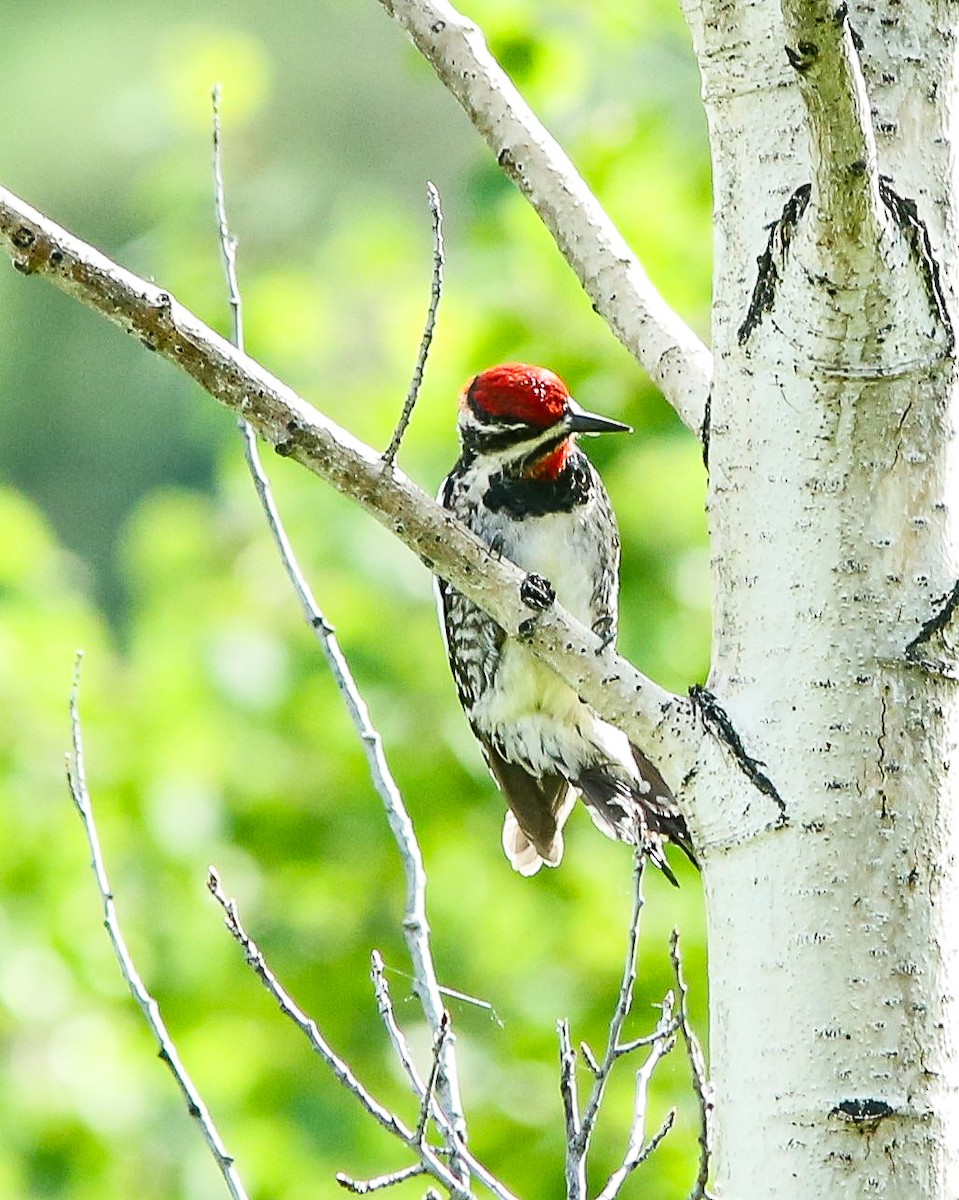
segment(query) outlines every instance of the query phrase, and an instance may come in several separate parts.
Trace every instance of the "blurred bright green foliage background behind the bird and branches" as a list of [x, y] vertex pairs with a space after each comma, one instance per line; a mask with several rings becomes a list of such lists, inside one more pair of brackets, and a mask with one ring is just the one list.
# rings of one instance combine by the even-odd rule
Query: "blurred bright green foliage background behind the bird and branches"
[[[425, 182], [446, 216], [437, 340], [401, 464], [433, 491], [462, 382], [549, 364], [636, 427], [589, 451], [624, 544], [624, 652], [664, 685], [706, 673], [699, 448], [592, 312], [538, 220], [376, 0], [8, 0], [2, 182], [155, 277], [224, 332], [210, 85], [247, 344], [385, 445], [428, 298]], [[709, 174], [673, 0], [473, 0], [468, 12], [564, 142], [667, 299], [708, 328]], [[272, 460], [274, 456], [270, 456]], [[269, 461], [293, 541], [382, 731], [419, 832], [473, 1142], [527, 1200], [562, 1192], [556, 1021], [603, 1044], [630, 857], [579, 814], [561, 870], [514, 875], [502, 802], [457, 709], [419, 562], [290, 463]], [[208, 863], [294, 996], [370, 1087], [414, 1108], [368, 984], [407, 1000], [403, 882], [358, 739], [277, 564], [233, 419], [49, 286], [0, 269], [0, 1195], [226, 1194], [120, 980], [64, 781], [85, 652], [90, 787], [121, 920], [182, 1057], [258, 1200], [338, 1194], [334, 1172], [404, 1162], [244, 966]], [[647, 886], [630, 1031], [684, 935], [705, 1033], [702, 901]], [[633, 1070], [594, 1144], [617, 1165]], [[627, 1195], [683, 1196], [696, 1121], [682, 1055], [655, 1076], [677, 1129]], [[421, 1195], [422, 1183], [395, 1194]]]

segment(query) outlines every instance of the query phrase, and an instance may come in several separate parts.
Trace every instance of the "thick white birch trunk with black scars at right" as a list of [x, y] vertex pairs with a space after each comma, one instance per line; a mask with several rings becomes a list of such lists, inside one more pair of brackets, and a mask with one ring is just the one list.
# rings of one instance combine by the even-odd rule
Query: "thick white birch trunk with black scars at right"
[[955, 1200], [955, 626], [910, 644], [959, 575], [959, 13], [855, 7], [857, 55], [832, 4], [687, 7], [715, 196], [708, 689], [785, 816], [744, 772], [694, 782], [715, 1188]]

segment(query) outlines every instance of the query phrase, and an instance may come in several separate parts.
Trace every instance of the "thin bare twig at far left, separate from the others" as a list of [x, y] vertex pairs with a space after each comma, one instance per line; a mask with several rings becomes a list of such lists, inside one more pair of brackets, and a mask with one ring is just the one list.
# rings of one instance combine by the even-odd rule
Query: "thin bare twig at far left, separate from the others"
[[176, 1086], [180, 1088], [184, 1094], [184, 1099], [186, 1100], [187, 1111], [199, 1126], [200, 1132], [203, 1133], [203, 1139], [216, 1160], [216, 1165], [220, 1168], [220, 1174], [223, 1176], [227, 1188], [229, 1189], [229, 1194], [233, 1196], [233, 1200], [247, 1200], [246, 1189], [240, 1180], [233, 1156], [223, 1145], [223, 1139], [220, 1136], [220, 1132], [214, 1123], [214, 1118], [210, 1116], [210, 1111], [206, 1108], [203, 1097], [197, 1091], [193, 1080], [187, 1074], [186, 1067], [184, 1067], [180, 1061], [180, 1055], [176, 1052], [176, 1046], [174, 1045], [173, 1039], [169, 1036], [169, 1031], [167, 1030], [167, 1025], [160, 1013], [160, 1006], [146, 990], [133, 959], [131, 958], [120, 929], [120, 920], [116, 916], [116, 906], [113, 900], [113, 889], [110, 888], [109, 878], [107, 877], [103, 852], [100, 847], [100, 834], [97, 833], [96, 821], [94, 820], [94, 806], [90, 800], [90, 792], [86, 787], [86, 764], [83, 752], [83, 731], [80, 728], [79, 713], [82, 660], [83, 654], [78, 653], [77, 662], [73, 668], [73, 688], [70, 694], [70, 725], [73, 742], [73, 756], [72, 760], [67, 756], [67, 782], [70, 784], [70, 793], [73, 797], [73, 803], [77, 805], [77, 811], [83, 821], [86, 841], [90, 845], [94, 877], [96, 878], [100, 899], [103, 905], [103, 924], [109, 934], [109, 938], [113, 944], [113, 953], [116, 955], [120, 973], [130, 988], [130, 994], [139, 1004], [143, 1015], [146, 1018], [146, 1024], [150, 1026], [154, 1037], [160, 1045], [160, 1057], [167, 1067], [169, 1067], [173, 1078], [176, 1080]]

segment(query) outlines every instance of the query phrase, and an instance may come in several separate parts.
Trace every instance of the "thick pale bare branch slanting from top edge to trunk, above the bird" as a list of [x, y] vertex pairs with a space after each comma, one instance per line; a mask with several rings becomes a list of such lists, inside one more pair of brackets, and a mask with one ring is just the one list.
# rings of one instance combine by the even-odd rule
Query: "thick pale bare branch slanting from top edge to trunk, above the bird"
[[537, 210], [593, 307], [699, 436], [713, 373], [709, 350], [653, 286], [565, 151], [492, 56], [483, 32], [446, 0], [379, 2]]

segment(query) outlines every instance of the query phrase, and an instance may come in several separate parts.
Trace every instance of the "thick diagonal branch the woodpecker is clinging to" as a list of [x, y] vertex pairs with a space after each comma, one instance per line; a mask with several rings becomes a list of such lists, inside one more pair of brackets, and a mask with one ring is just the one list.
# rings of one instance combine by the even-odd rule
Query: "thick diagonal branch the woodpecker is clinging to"
[[374, 450], [236, 350], [168, 292], [118, 266], [4, 188], [0, 246], [19, 271], [44, 276], [176, 364], [278, 454], [352, 497], [430, 570], [510, 635], [522, 637], [579, 696], [641, 745], [667, 782], [678, 784], [693, 768], [703, 733], [688, 698], [653, 683], [558, 606], [534, 614], [521, 596], [523, 571], [497, 559], [402, 472], [384, 467]]

